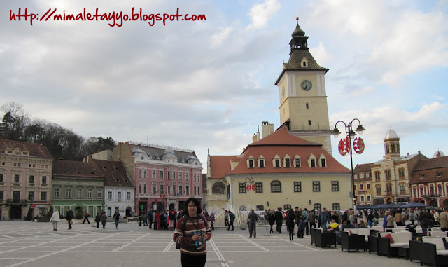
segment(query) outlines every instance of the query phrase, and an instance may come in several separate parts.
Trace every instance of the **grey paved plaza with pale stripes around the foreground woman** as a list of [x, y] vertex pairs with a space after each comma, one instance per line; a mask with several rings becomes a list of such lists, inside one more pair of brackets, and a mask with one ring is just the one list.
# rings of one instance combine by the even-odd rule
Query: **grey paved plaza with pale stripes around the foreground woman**
[[[288, 240], [288, 233], [269, 234], [258, 228], [214, 231], [207, 242], [206, 266], [420, 266], [419, 262], [388, 259], [368, 252], [341, 252], [340, 247], [311, 246], [309, 235]], [[181, 266], [172, 231], [154, 231], [137, 223], [113, 223], [106, 229], [92, 224], [52, 224], [0, 221], [0, 267], [13, 266]]]

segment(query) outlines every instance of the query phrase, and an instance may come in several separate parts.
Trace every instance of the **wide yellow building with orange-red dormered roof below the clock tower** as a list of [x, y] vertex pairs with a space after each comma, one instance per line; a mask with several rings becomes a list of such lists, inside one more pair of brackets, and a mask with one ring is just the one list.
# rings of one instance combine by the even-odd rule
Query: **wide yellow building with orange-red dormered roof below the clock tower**
[[207, 163], [209, 211], [351, 207], [350, 170], [284, 126], [241, 155], [209, 155]]

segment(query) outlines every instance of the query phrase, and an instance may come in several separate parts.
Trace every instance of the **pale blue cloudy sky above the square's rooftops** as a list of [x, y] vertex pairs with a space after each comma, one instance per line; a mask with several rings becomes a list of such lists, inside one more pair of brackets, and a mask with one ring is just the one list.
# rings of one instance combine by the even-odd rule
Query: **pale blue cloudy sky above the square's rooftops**
[[[133, 7], [148, 19], [111, 27], [113, 20], [43, 17], [84, 8], [130, 15]], [[33, 25], [30, 16], [10, 20], [19, 8], [36, 14]], [[177, 8], [207, 20], [151, 21], [151, 14]], [[365, 151], [353, 154], [353, 167], [383, 158], [389, 129], [400, 137], [402, 155], [448, 155], [444, 0], [6, 0], [0, 105], [18, 102], [32, 118], [83, 137], [193, 149], [207, 173], [208, 149], [238, 155], [262, 121], [279, 127], [274, 83], [288, 62], [297, 14], [311, 54], [330, 69], [329, 128], [358, 118], [366, 129]], [[341, 138], [332, 137], [332, 155], [350, 167], [349, 156], [337, 151]]]

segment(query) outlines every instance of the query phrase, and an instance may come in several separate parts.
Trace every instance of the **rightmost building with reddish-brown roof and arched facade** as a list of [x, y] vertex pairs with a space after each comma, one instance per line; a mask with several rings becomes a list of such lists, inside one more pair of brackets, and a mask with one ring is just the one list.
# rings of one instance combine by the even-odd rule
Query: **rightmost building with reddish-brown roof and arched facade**
[[421, 160], [409, 181], [412, 201], [433, 207], [448, 207], [448, 157], [440, 151]]

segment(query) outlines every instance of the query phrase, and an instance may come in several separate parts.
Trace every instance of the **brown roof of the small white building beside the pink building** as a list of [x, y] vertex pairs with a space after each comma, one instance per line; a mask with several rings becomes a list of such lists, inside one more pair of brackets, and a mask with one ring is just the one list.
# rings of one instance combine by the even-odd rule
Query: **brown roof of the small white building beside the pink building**
[[104, 186], [134, 187], [121, 161], [93, 160], [104, 176]]

